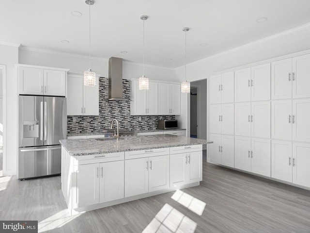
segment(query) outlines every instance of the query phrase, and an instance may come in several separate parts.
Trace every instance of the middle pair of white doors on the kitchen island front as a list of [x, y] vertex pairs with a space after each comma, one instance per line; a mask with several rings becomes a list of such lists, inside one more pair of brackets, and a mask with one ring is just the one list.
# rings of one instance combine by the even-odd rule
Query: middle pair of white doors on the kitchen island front
[[169, 155], [125, 160], [125, 197], [169, 188]]

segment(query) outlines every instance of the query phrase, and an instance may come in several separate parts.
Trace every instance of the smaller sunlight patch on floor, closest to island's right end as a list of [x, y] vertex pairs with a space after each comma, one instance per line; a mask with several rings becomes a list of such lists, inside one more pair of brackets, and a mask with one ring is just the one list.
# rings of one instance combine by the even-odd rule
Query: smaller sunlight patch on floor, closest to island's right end
[[194, 198], [193, 196], [181, 190], [176, 190], [171, 198], [179, 202], [181, 205], [185, 206], [186, 208], [190, 209], [197, 215], [202, 216], [202, 213], [205, 207], [205, 202], [203, 202], [202, 200]]

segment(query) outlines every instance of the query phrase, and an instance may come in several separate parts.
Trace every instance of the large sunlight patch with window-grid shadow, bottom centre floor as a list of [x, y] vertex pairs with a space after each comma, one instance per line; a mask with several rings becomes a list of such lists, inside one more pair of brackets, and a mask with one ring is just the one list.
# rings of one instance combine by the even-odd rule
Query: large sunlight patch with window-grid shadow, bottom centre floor
[[165, 204], [142, 233], [194, 233], [197, 223]]

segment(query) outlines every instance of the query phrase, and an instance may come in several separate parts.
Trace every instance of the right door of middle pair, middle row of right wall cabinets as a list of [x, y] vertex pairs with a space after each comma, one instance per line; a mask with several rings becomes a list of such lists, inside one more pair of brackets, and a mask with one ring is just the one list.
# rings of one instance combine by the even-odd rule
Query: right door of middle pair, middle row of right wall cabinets
[[270, 101], [258, 101], [251, 104], [252, 137], [270, 138]]

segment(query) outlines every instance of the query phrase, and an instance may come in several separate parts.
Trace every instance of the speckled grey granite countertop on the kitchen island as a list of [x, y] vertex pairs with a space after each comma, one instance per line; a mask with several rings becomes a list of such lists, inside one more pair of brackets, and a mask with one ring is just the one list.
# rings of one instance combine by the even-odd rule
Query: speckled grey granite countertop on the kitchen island
[[116, 139], [67, 139], [60, 140], [62, 146], [72, 156], [113, 153], [131, 150], [150, 150], [155, 148], [181, 147], [213, 143], [211, 141], [175, 136], [171, 134], [126, 136]]

